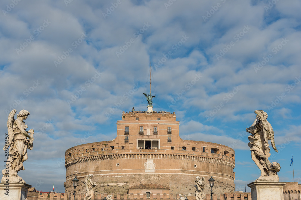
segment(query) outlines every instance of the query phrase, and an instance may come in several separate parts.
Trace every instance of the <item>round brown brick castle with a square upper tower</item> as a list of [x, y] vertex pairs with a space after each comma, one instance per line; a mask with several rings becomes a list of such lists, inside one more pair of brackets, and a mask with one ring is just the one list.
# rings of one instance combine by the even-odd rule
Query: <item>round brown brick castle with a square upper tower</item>
[[[66, 151], [65, 192], [73, 190], [74, 172], [79, 179], [78, 193], [85, 193], [88, 174], [94, 174], [95, 193], [123, 194], [134, 185], [161, 184], [169, 187], [170, 193], [194, 194], [196, 176], [206, 180], [213, 176], [218, 196], [234, 192], [234, 150], [211, 142], [183, 140], [179, 125], [175, 113], [123, 112], [115, 139]], [[208, 182], [205, 194], [210, 194]]]

